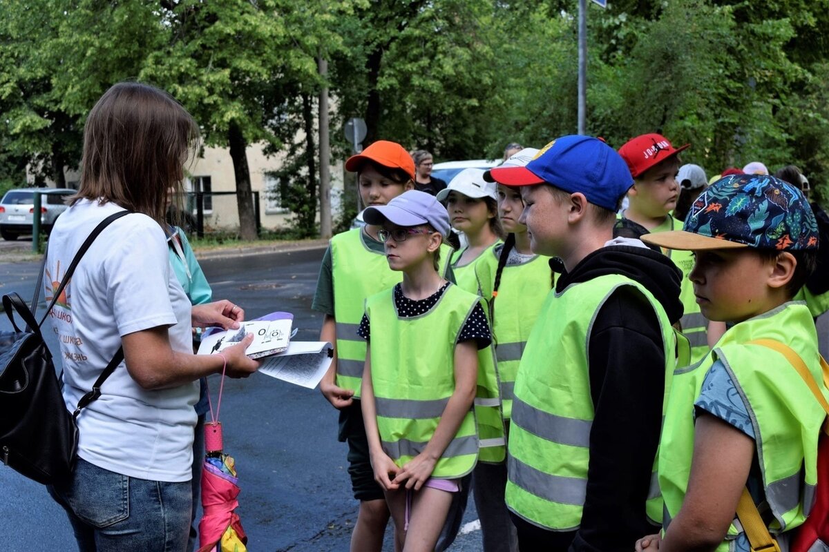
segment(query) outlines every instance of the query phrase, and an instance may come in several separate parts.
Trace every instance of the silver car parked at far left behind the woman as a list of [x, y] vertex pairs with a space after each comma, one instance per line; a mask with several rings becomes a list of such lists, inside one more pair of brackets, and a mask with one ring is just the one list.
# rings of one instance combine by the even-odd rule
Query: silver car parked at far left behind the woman
[[69, 208], [67, 200], [75, 194], [69, 188], [18, 188], [8, 190], [0, 200], [0, 236], [16, 240], [22, 234], [32, 234], [35, 214], [35, 192], [41, 192], [41, 229], [51, 231], [55, 219]]

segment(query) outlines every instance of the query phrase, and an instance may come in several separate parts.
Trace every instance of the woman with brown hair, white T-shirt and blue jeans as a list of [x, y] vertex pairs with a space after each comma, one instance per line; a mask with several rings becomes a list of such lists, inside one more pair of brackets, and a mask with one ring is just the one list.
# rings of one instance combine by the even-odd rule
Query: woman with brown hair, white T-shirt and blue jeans
[[87, 118], [80, 190], [49, 240], [46, 270], [60, 280], [98, 223], [133, 212], [92, 243], [51, 312], [70, 411], [124, 352], [78, 417], [74, 473], [50, 487], [82, 551], [185, 549], [198, 379], [246, 377], [259, 367], [245, 356], [250, 337], [221, 354], [192, 354], [192, 326], [244, 319], [228, 300], [191, 306], [167, 258], [167, 189], [180, 190], [197, 139], [196, 123], [169, 95], [115, 84]]

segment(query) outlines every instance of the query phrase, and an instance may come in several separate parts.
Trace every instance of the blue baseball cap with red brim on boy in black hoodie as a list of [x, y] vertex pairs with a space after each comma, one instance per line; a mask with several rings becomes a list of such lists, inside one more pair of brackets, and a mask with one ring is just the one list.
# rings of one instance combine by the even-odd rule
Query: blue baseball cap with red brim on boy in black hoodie
[[563, 136], [550, 142], [526, 166], [495, 167], [490, 175], [507, 186], [553, 185], [581, 193], [589, 203], [615, 211], [633, 185], [627, 163], [599, 138]]

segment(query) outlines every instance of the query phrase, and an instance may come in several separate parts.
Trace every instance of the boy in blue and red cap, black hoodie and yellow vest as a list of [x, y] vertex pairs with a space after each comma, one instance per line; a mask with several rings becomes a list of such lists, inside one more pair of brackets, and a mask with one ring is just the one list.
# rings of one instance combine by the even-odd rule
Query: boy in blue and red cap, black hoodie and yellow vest
[[652, 482], [680, 272], [638, 240], [613, 240], [633, 180], [604, 142], [560, 137], [491, 174], [523, 186], [533, 252], [565, 266], [516, 379], [506, 494], [519, 547], [630, 550], [662, 510]]

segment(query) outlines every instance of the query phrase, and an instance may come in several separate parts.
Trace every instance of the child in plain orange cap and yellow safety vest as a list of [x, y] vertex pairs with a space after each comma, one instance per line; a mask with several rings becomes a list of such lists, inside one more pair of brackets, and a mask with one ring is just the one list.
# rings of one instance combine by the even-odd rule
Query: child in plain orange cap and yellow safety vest
[[[346, 161], [346, 170], [356, 172], [357, 190], [363, 205], [381, 207], [406, 190], [414, 189], [414, 161], [396, 142], [381, 140]], [[400, 282], [400, 272], [391, 271], [385, 259], [381, 227], [368, 223], [337, 234], [322, 258], [313, 310], [324, 314], [320, 339], [335, 343], [331, 368], [320, 382], [320, 391], [339, 410], [338, 439], [348, 444], [351, 490], [360, 501], [351, 535], [351, 550], [380, 552], [389, 509], [383, 489], [371, 469], [366, 430], [360, 406], [360, 387], [366, 362], [366, 342], [356, 334], [366, 297], [390, 289]], [[445, 246], [441, 275], [448, 270]]]

